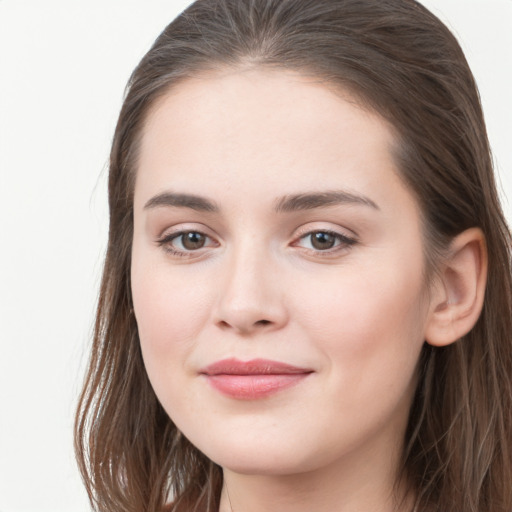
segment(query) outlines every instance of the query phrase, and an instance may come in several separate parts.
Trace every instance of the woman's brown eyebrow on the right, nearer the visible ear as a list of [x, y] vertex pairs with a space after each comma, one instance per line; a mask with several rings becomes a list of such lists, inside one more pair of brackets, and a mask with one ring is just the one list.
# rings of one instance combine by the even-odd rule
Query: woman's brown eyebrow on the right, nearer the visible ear
[[276, 212], [294, 212], [298, 210], [313, 210], [315, 208], [326, 208], [339, 204], [360, 204], [380, 210], [377, 203], [369, 197], [348, 192], [345, 190], [329, 190], [326, 192], [315, 192], [307, 194], [288, 195], [276, 202]]

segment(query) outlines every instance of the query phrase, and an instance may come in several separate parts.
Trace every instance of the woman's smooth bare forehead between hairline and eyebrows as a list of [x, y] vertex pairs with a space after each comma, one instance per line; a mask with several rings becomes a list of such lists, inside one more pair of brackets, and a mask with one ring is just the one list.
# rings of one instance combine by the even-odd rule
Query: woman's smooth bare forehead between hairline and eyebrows
[[397, 180], [394, 143], [384, 119], [316, 78], [262, 69], [203, 75], [171, 88], [149, 112], [135, 200], [191, 186], [206, 195], [340, 186], [364, 193]]

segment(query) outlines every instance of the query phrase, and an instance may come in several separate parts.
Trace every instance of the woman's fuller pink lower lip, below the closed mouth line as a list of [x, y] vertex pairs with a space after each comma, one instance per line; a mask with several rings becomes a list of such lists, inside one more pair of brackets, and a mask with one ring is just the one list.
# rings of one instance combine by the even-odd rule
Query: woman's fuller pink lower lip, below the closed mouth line
[[299, 384], [310, 373], [260, 375], [207, 375], [217, 391], [239, 400], [257, 400]]

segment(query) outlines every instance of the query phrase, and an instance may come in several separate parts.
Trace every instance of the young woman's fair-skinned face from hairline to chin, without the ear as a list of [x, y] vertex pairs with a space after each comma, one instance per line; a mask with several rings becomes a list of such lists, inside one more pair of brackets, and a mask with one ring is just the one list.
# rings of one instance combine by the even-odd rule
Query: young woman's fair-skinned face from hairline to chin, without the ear
[[189, 80], [144, 128], [133, 300], [183, 434], [232, 471], [399, 451], [429, 317], [420, 212], [377, 115], [285, 72]]

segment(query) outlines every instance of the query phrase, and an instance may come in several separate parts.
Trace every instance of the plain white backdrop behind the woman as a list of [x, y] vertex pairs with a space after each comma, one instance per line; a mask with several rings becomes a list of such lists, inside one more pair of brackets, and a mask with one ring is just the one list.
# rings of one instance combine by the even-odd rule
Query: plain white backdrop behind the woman
[[[189, 3], [0, 0], [0, 512], [89, 510], [72, 423], [109, 144], [131, 70]], [[424, 3], [466, 51], [512, 198], [512, 0]]]

